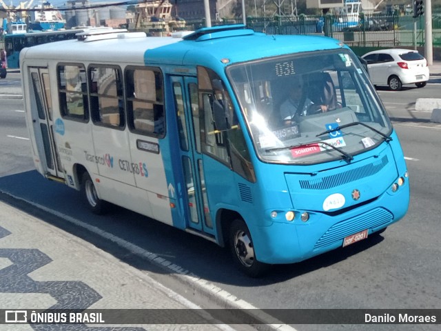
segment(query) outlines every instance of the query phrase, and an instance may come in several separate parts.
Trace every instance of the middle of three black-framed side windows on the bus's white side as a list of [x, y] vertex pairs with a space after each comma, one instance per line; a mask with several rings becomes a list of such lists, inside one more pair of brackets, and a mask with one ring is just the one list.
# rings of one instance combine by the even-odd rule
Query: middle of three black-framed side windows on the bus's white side
[[125, 126], [123, 81], [116, 66], [90, 66], [90, 112], [94, 123], [112, 128]]

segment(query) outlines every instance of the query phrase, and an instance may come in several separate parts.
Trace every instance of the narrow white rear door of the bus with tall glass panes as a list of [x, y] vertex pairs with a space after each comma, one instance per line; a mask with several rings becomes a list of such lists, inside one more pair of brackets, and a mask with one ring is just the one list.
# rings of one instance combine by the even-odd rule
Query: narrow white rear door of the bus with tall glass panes
[[[50, 94], [48, 68], [29, 68], [30, 86], [30, 108], [34, 132], [40, 132], [39, 143], [43, 151], [39, 155], [45, 156], [45, 168], [50, 176], [64, 177], [63, 168], [57, 152], [57, 145], [54, 140], [54, 121], [52, 117], [52, 99]], [[40, 159], [42, 159], [40, 157]], [[41, 160], [43, 162], [43, 160]]]

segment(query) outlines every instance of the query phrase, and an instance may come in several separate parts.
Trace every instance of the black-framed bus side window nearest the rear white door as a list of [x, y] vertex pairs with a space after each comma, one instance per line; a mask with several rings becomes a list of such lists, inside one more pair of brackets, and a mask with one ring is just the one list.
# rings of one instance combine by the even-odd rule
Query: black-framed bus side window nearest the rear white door
[[83, 89], [85, 68], [83, 65], [59, 65], [57, 67], [58, 92], [63, 118], [88, 121], [88, 94]]

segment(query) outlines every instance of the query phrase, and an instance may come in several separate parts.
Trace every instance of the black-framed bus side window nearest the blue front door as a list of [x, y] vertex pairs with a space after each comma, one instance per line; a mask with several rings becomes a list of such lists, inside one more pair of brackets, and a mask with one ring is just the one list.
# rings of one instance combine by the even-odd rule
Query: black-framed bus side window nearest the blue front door
[[165, 113], [161, 71], [156, 68], [128, 68], [125, 71], [125, 83], [130, 130], [163, 138]]

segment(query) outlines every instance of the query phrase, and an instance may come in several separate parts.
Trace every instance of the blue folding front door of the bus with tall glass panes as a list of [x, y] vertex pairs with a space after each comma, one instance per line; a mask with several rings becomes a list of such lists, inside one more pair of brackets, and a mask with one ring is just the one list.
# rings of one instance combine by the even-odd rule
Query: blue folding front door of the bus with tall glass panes
[[214, 234], [209, 213], [201, 154], [198, 84], [193, 77], [172, 77], [180, 157], [184, 176], [183, 194], [188, 226]]

